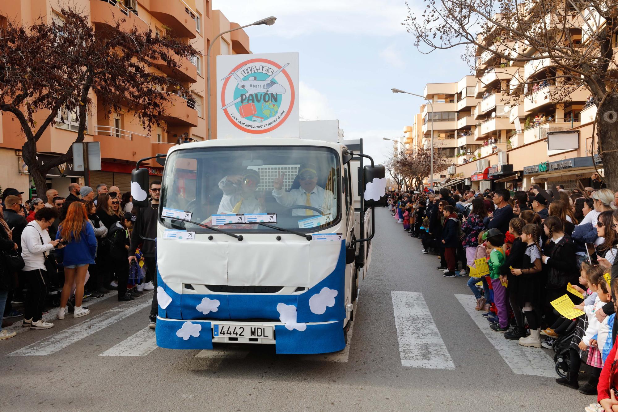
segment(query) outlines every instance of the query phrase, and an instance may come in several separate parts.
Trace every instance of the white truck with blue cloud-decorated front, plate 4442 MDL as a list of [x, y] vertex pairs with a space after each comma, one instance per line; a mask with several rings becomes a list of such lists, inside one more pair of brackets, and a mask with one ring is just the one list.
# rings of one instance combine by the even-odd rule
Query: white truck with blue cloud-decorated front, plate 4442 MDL
[[[257, 343], [288, 354], [345, 347], [384, 166], [362, 153], [362, 140], [346, 145], [318, 133], [328, 121], [310, 123], [300, 138], [217, 139], [156, 156], [164, 164], [158, 346]], [[142, 207], [149, 159], [132, 174], [133, 204]]]

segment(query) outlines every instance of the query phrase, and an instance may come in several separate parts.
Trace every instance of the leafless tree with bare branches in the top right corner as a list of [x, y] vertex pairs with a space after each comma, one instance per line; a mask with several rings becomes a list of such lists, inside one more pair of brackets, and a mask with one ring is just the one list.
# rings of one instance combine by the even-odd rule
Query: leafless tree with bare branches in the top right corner
[[464, 60], [478, 76], [538, 61], [540, 74], [502, 90], [512, 102], [527, 98], [532, 82], [555, 86], [553, 101], [590, 91], [598, 106], [595, 149], [608, 187], [618, 187], [616, 0], [425, 0], [420, 12], [408, 4], [404, 25], [422, 53], [465, 46]]

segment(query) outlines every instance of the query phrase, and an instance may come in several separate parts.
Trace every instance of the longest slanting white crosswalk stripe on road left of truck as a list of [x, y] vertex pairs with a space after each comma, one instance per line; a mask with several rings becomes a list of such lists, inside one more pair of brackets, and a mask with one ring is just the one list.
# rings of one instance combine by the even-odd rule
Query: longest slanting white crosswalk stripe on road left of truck
[[[134, 302], [132, 302], [132, 304], [134, 304]], [[87, 338], [93, 333], [115, 324], [125, 317], [141, 311], [145, 307], [150, 306], [150, 304], [150, 301], [142, 301], [142, 303], [135, 306], [131, 304], [122, 304], [109, 311], [91, 317], [90, 319], [86, 319], [77, 325], [64, 329], [61, 332], [36, 341], [28, 346], [24, 346], [21, 349], [9, 353], [9, 356], [44, 356], [56, 353], [72, 343]], [[59, 322], [62, 322], [62, 320]]]

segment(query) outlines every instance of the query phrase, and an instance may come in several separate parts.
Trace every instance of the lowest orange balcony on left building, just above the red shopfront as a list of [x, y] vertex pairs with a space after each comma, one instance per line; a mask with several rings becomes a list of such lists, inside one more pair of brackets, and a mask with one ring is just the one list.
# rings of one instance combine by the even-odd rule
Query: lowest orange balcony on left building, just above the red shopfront
[[151, 156], [150, 137], [111, 126], [96, 126], [94, 141], [101, 144], [103, 160], [136, 162]]

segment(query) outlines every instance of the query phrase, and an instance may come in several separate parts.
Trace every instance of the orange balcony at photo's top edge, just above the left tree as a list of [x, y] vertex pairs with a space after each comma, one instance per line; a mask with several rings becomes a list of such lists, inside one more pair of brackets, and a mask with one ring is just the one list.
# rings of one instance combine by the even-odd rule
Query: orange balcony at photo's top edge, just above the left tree
[[116, 22], [121, 20], [120, 28], [124, 32], [129, 32], [133, 27], [138, 32], [147, 32], [150, 28], [142, 17], [115, 0], [90, 0], [90, 20], [95, 30], [103, 33], [116, 30]]

